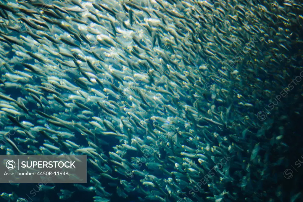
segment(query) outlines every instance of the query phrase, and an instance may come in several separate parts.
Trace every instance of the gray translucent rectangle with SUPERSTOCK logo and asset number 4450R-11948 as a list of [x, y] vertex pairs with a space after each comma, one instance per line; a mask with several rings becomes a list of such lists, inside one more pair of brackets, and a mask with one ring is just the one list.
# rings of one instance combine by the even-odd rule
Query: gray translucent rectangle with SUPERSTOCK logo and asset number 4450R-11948
[[0, 183], [86, 183], [86, 155], [0, 155]]

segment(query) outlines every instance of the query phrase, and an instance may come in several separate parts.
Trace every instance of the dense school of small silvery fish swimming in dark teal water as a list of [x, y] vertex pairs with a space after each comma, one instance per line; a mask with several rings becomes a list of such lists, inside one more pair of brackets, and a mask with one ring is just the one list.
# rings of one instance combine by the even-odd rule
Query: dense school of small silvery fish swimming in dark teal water
[[87, 155], [74, 186], [94, 202], [298, 200], [273, 172], [281, 111], [300, 115], [301, 1], [3, 0], [0, 16], [2, 154]]

